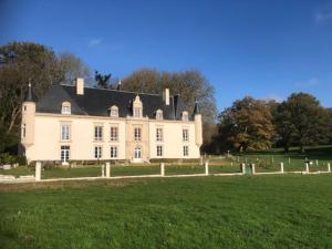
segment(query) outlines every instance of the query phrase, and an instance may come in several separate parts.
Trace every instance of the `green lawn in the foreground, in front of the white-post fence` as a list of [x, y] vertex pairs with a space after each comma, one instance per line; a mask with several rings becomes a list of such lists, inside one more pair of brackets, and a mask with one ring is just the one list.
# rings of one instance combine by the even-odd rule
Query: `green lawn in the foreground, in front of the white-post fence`
[[332, 248], [332, 175], [0, 185], [0, 248]]

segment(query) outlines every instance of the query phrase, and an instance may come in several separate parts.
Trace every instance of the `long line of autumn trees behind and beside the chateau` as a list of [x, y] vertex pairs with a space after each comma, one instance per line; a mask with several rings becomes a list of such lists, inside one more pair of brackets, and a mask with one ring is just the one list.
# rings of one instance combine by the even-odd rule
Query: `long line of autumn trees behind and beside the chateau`
[[[194, 110], [198, 101], [204, 121], [203, 152], [221, 153], [332, 143], [332, 110], [305, 93], [282, 103], [247, 96], [218, 114], [215, 89], [197, 70], [160, 72], [142, 69], [122, 80], [92, 71], [72, 53], [56, 54], [33, 42], [0, 46], [0, 153], [14, 153], [20, 139], [21, 105], [31, 82], [37, 97], [53, 84], [74, 84], [84, 77], [90, 86], [162, 94], [165, 87], [179, 94]], [[93, 100], [92, 100], [93, 101]]]

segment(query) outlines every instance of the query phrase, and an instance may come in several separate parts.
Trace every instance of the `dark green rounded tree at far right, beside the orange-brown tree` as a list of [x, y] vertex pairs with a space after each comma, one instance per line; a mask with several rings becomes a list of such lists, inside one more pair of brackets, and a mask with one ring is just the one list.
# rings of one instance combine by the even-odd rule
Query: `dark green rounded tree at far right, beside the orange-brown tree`
[[326, 138], [326, 111], [307, 93], [293, 93], [278, 107], [276, 125], [282, 144], [301, 147], [322, 143]]

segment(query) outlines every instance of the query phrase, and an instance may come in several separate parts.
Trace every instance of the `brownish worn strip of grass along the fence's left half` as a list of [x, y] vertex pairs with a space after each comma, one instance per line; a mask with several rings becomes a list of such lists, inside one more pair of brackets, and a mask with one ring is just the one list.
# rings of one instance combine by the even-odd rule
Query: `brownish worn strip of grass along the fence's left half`
[[44, 183], [0, 184], [0, 193], [29, 191], [37, 189], [64, 189], [84, 187], [124, 187], [133, 184], [146, 184], [147, 179], [98, 179], [63, 180]]

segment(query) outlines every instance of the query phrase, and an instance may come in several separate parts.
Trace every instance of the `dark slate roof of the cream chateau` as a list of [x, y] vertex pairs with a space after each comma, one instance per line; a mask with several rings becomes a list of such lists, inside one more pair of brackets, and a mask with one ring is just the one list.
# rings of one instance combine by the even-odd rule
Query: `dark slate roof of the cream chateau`
[[[84, 94], [76, 94], [76, 86], [53, 85], [46, 94], [37, 102], [38, 113], [61, 113], [62, 103], [71, 103], [71, 113], [75, 115], [110, 116], [110, 107], [118, 107], [118, 116], [126, 117], [132, 114], [132, 104], [136, 93], [84, 87]], [[143, 103], [143, 116], [155, 118], [156, 111], [163, 110], [164, 120], [180, 120], [181, 112], [188, 111], [183, 100], [176, 95], [165, 105], [162, 95], [138, 94]]]

